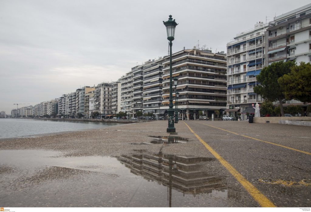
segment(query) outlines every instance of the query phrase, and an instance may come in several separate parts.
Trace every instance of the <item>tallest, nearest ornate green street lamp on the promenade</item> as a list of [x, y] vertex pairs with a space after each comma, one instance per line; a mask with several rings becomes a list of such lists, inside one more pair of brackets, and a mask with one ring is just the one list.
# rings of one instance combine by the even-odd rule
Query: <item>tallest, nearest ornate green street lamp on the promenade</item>
[[168, 127], [166, 129], [166, 132], [176, 132], [176, 129], [174, 127], [174, 109], [173, 109], [173, 83], [172, 83], [172, 41], [174, 40], [175, 35], [175, 27], [178, 25], [175, 22], [175, 19], [173, 20], [172, 16], [169, 15], [169, 20], [164, 22], [164, 25], [166, 27], [166, 33], [167, 33], [167, 39], [169, 40], [169, 123]]

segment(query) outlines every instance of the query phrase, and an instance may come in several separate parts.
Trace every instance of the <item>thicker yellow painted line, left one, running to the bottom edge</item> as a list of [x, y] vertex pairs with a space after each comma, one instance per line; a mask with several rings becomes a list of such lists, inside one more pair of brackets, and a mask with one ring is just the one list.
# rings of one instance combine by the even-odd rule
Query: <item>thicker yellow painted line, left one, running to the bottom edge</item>
[[[183, 122], [185, 123], [185, 122]], [[254, 198], [262, 207], [276, 207], [266, 196], [264, 196], [252, 183], [248, 182], [235, 168], [233, 168], [225, 159], [223, 159], [210, 145], [205, 143], [189, 126], [185, 123], [189, 130], [197, 137], [197, 139], [206, 147], [211, 154], [233, 175], [233, 177], [241, 183], [245, 190]]]

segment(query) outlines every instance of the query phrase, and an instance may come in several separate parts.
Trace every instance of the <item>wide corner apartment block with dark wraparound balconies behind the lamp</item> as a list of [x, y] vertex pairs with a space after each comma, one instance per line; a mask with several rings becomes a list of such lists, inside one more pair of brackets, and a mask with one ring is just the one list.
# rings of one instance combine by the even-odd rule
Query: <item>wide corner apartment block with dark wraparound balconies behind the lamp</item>
[[[163, 61], [161, 114], [169, 108], [169, 56]], [[211, 117], [226, 107], [226, 55], [211, 50], [189, 49], [172, 55], [172, 76], [178, 78], [178, 113], [182, 119], [197, 119], [199, 111]], [[173, 85], [173, 104], [175, 102]], [[174, 107], [175, 108], [175, 107]], [[160, 115], [161, 115], [160, 114]]]

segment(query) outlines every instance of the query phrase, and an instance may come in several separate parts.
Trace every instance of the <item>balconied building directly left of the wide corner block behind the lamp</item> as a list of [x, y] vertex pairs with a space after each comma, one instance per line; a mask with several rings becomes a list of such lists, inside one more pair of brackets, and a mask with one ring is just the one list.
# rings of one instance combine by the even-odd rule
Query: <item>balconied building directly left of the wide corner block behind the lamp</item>
[[159, 117], [162, 103], [163, 58], [148, 61], [143, 68], [143, 112]]

